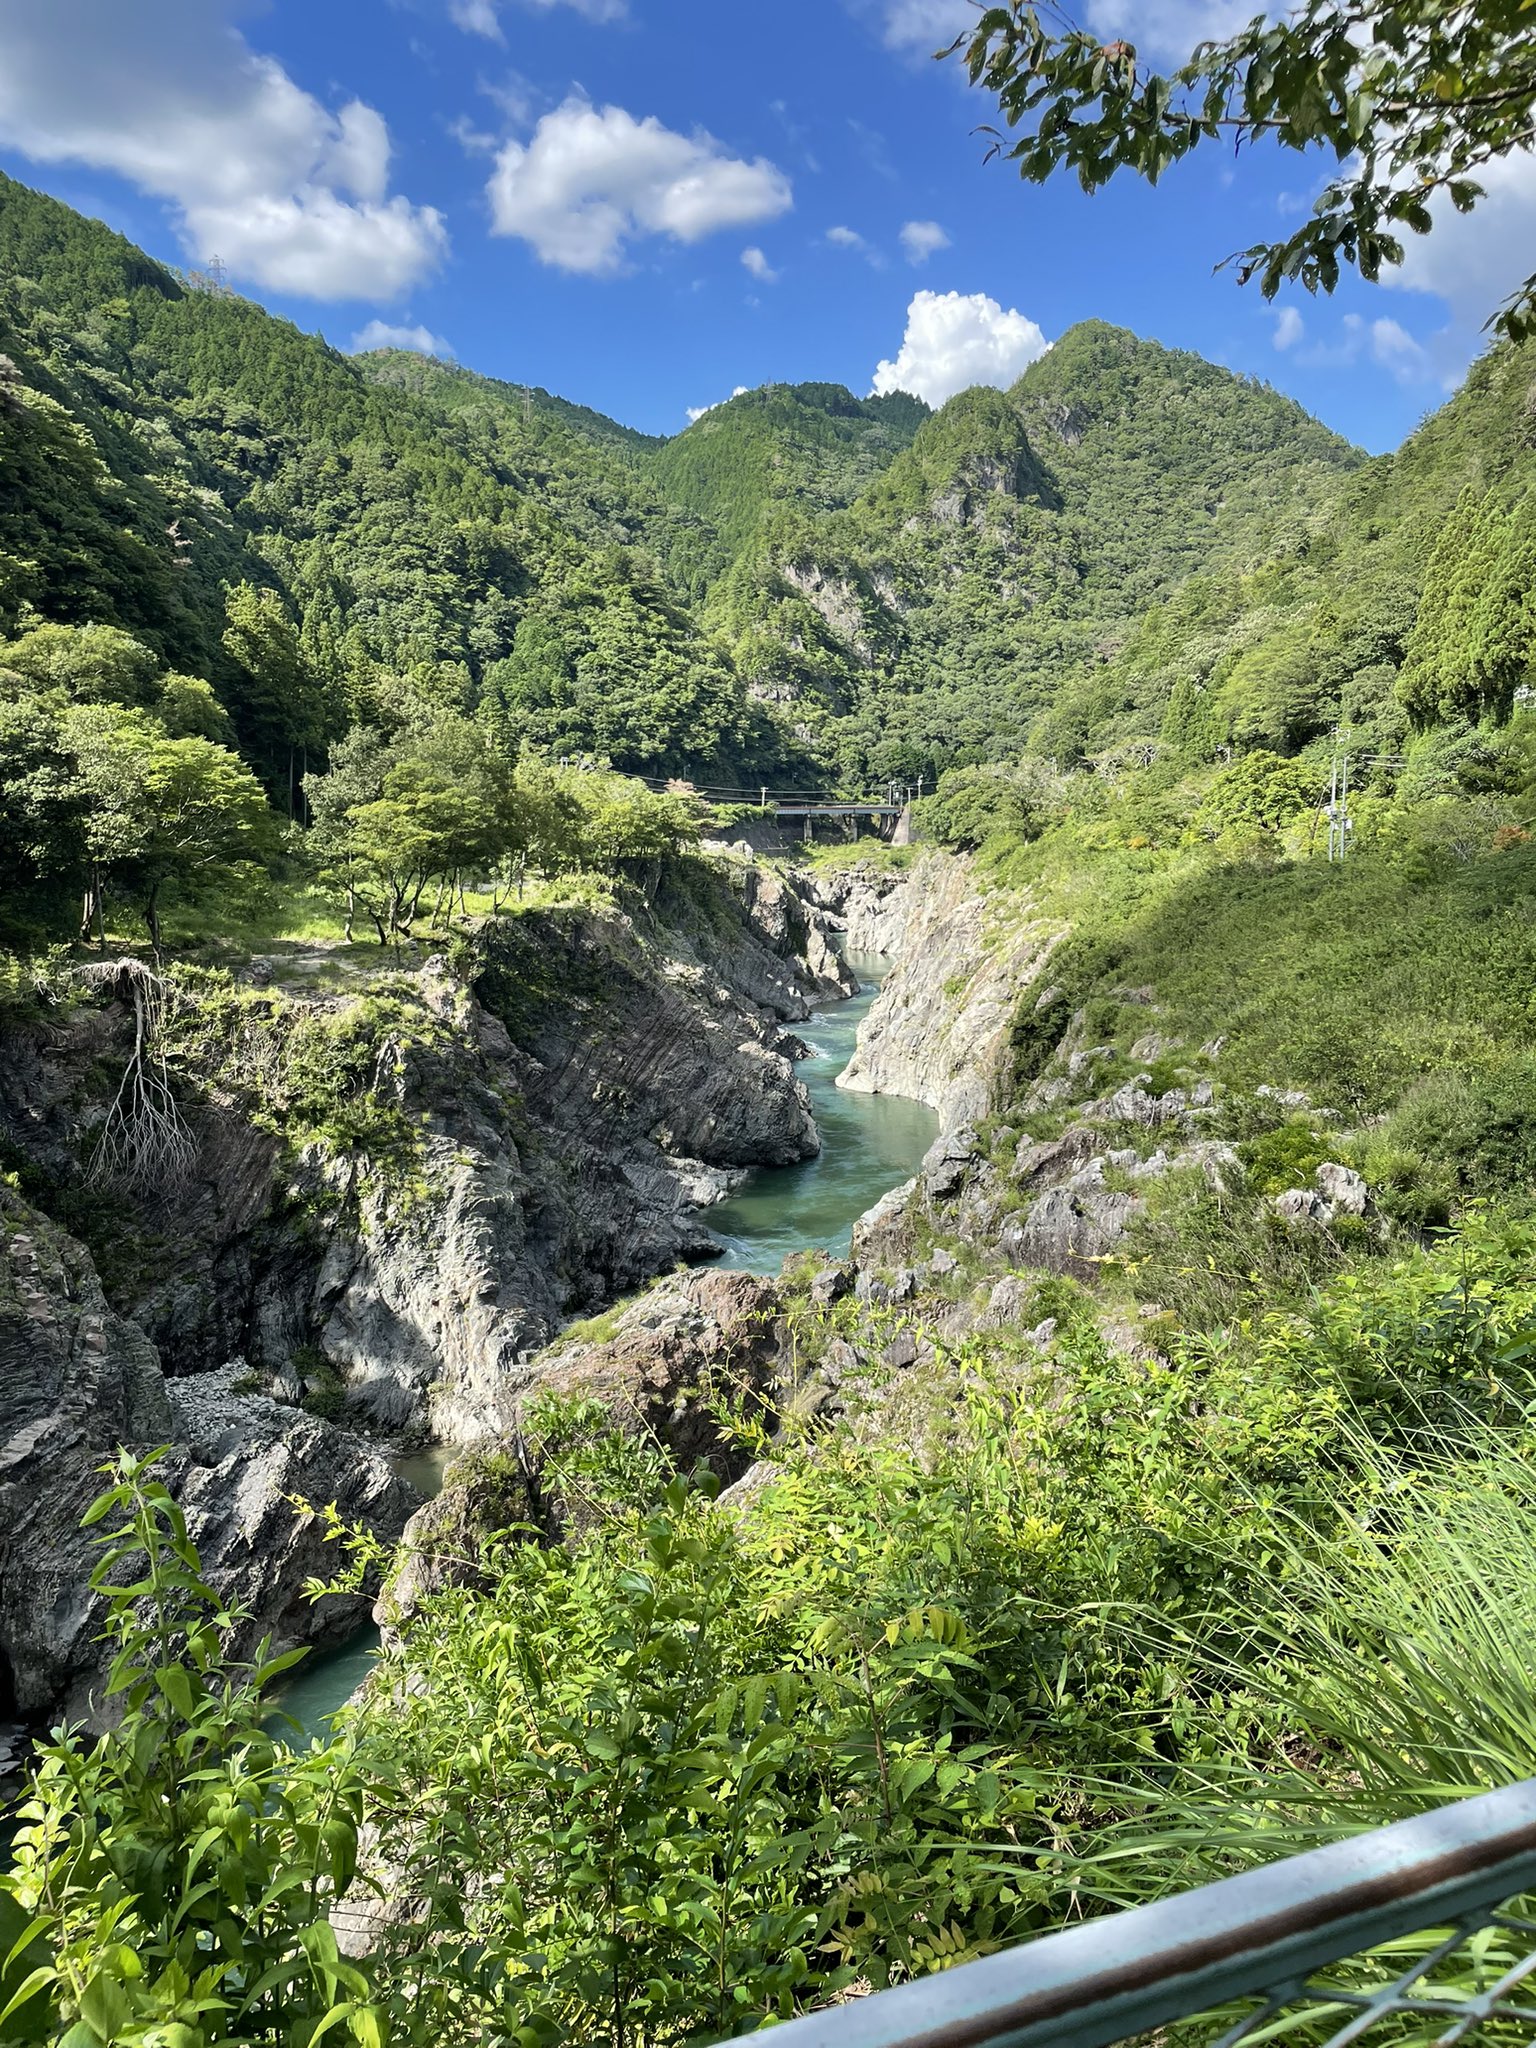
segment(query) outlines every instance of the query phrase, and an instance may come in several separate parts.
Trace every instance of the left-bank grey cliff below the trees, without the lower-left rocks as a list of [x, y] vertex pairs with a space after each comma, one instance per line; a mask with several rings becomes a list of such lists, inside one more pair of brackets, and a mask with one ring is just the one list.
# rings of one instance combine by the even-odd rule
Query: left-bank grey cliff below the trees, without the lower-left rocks
[[[207, 1028], [182, 991], [197, 1157], [176, 1186], [90, 1190], [100, 1075], [131, 1042], [111, 997], [10, 1032], [0, 1141], [45, 1208], [100, 1217], [113, 1300], [170, 1372], [240, 1356], [283, 1378], [324, 1354], [350, 1419], [449, 1442], [500, 1427], [500, 1393], [571, 1315], [709, 1260], [707, 1210], [743, 1171], [817, 1151], [784, 1024], [850, 987], [823, 913], [741, 862], [637, 918], [496, 920], [455, 969], [303, 969], [260, 963]], [[252, 983], [260, 1016], [238, 1008]], [[371, 1006], [391, 1014], [371, 1026]], [[369, 1073], [336, 1085], [371, 1087], [385, 1151], [285, 1108], [305, 1047], [354, 1020]]]

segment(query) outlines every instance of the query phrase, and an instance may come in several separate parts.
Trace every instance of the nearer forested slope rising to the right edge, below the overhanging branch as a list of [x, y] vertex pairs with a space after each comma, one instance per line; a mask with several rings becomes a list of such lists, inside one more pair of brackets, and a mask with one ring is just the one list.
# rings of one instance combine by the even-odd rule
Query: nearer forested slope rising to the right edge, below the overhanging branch
[[[1528, 676], [1536, 354], [1507, 346], [1393, 455], [1362, 465], [1274, 547], [1190, 575], [1034, 731], [1044, 754], [1294, 754], [1339, 721], [1395, 754], [1411, 723], [1505, 715]], [[1434, 618], [1421, 618], [1421, 594]], [[1432, 627], [1446, 602], [1464, 662]]]

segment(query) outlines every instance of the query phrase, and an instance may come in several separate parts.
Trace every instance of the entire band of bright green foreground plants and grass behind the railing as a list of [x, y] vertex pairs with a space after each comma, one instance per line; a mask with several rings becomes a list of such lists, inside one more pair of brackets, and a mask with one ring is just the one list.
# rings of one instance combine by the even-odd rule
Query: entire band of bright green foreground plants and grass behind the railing
[[[563, 1540], [465, 1530], [475, 1585], [309, 1753], [119, 1460], [92, 1520], [125, 1720], [41, 1755], [20, 2038], [721, 2040], [1528, 1774], [1534, 1249], [1473, 1221], [1149, 1362], [1092, 1317], [1049, 1366], [973, 1339], [895, 1432], [735, 1413], [748, 1452], [778, 1430], [745, 1516], [547, 1403], [477, 1497], [563, 1501]], [[328, 1915], [375, 1880], [397, 1911], [344, 1962]]]

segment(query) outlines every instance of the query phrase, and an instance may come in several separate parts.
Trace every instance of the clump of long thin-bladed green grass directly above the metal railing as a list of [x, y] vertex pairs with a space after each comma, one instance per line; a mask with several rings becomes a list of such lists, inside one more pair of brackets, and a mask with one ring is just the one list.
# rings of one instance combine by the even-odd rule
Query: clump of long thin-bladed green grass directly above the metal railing
[[1221, 1559], [1221, 1610], [1118, 1620], [1178, 1739], [1090, 1790], [1083, 1896], [1139, 1905], [1536, 1776], [1536, 1440], [1350, 1448], [1329, 1520], [1278, 1513], [1257, 1571]]

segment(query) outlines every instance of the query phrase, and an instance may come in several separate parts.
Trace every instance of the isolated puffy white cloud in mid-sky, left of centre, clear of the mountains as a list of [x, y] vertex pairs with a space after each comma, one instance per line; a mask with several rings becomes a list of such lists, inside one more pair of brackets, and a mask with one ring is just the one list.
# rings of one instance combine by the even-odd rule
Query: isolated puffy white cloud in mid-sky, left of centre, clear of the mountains
[[766, 158], [727, 156], [702, 129], [678, 135], [653, 115], [569, 98], [528, 143], [510, 141], [487, 186], [492, 229], [520, 236], [561, 270], [602, 276], [635, 236], [702, 242], [721, 227], [770, 221], [795, 205]]

